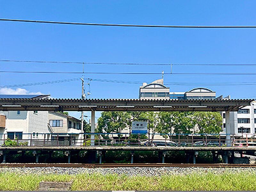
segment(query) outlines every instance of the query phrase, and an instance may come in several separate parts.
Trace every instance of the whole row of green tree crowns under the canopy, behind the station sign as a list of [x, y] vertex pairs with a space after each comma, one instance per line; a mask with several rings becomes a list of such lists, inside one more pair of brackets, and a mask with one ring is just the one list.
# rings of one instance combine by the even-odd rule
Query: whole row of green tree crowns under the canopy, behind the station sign
[[219, 133], [222, 127], [222, 117], [218, 112], [102, 112], [98, 119], [98, 132], [120, 133], [138, 119], [150, 121], [150, 133]]

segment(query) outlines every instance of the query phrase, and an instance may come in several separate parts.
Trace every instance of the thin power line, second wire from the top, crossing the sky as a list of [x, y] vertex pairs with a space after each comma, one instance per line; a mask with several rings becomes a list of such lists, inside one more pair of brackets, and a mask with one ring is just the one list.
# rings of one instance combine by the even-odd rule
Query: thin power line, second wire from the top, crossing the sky
[[77, 61], [38, 61], [38, 60], [0, 60], [1, 62], [21, 62], [21, 63], [53, 63], [53, 64], [95, 64], [95, 65], [161, 65], [161, 66], [256, 66], [256, 64], [243, 63], [116, 63], [116, 62], [77, 62]]

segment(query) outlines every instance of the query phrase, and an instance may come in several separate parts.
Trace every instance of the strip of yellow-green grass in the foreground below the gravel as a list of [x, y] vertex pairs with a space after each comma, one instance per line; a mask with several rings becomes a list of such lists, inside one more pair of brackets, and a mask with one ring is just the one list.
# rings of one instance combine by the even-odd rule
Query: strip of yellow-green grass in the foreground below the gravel
[[38, 190], [40, 181], [73, 181], [72, 190], [256, 190], [256, 175], [251, 172], [155, 177], [0, 173], [0, 190]]

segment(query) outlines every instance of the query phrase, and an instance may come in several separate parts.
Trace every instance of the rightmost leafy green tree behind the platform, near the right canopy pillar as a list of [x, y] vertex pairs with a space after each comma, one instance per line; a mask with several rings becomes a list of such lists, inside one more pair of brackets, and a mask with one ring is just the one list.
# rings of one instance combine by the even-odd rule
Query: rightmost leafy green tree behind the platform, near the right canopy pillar
[[193, 121], [197, 133], [219, 133], [221, 131], [222, 117], [218, 112], [194, 112]]

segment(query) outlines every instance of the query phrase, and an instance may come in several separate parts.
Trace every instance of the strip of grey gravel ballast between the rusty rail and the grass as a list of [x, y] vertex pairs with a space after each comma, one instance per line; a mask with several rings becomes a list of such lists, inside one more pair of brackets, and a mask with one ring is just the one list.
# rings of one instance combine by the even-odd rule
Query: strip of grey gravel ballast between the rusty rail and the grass
[[203, 168], [203, 167], [117, 167], [117, 168], [66, 168], [66, 167], [8, 167], [0, 168], [0, 172], [12, 172], [19, 174], [118, 174], [128, 176], [161, 176], [161, 175], [188, 175], [200, 173], [242, 173], [251, 172], [256, 174], [256, 168]]

